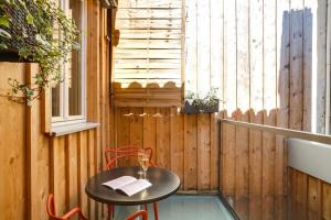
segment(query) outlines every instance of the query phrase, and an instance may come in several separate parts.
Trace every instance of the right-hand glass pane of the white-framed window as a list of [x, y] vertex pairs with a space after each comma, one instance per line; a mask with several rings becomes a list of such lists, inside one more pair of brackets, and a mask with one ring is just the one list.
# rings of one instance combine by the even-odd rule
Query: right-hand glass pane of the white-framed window
[[[75, 21], [82, 32], [82, 1], [70, 1], [70, 16]], [[68, 105], [70, 116], [82, 114], [82, 53], [73, 51], [68, 57]]]

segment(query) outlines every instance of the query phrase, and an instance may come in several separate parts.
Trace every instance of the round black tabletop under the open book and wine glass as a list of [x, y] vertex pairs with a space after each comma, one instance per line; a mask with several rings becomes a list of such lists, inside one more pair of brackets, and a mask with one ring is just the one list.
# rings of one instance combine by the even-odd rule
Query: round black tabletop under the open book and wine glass
[[85, 191], [92, 199], [103, 204], [114, 204], [119, 206], [136, 206], [150, 204], [169, 197], [180, 188], [180, 178], [171, 170], [149, 167], [147, 178], [152, 184], [151, 187], [131, 196], [125, 196], [103, 186], [105, 182], [120, 176], [135, 176], [138, 178], [139, 167], [118, 167], [111, 170], [98, 173], [89, 178]]

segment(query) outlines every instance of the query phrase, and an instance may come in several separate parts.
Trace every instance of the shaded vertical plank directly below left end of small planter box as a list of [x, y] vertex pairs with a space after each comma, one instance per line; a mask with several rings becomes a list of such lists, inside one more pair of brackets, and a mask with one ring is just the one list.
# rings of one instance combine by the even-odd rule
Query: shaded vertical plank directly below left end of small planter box
[[196, 114], [184, 116], [184, 190], [196, 189]]

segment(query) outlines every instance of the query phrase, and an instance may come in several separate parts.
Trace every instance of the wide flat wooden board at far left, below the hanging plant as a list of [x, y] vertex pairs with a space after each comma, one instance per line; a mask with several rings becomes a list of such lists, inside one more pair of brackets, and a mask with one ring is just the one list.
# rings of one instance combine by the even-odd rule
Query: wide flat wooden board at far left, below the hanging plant
[[[24, 80], [23, 64], [0, 64], [0, 91], [9, 88], [8, 77]], [[2, 79], [3, 77], [3, 79]], [[0, 97], [0, 210], [3, 219], [24, 219], [28, 200], [25, 180], [25, 108]], [[18, 127], [17, 124], [21, 124]], [[6, 138], [6, 139], [4, 139]], [[20, 183], [20, 184], [15, 184]]]

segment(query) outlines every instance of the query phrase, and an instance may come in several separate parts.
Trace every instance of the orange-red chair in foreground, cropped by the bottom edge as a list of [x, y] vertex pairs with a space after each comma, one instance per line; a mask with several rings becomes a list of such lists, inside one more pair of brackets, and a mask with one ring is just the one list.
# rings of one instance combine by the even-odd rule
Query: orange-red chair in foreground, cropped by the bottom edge
[[[50, 196], [49, 196], [46, 209], [47, 209], [47, 215], [49, 215], [50, 220], [68, 220], [74, 215], [78, 215], [79, 219], [87, 220], [87, 218], [84, 217], [82, 210], [78, 207], [72, 209], [71, 211], [68, 211], [67, 213], [65, 213], [62, 217], [56, 217], [55, 202], [54, 202], [54, 195], [53, 194], [50, 194]], [[141, 217], [142, 220], [148, 220], [148, 212], [143, 211], [143, 210], [142, 211], [137, 211], [132, 216], [128, 217], [127, 220], [135, 220], [138, 217]]]

